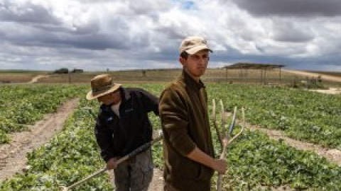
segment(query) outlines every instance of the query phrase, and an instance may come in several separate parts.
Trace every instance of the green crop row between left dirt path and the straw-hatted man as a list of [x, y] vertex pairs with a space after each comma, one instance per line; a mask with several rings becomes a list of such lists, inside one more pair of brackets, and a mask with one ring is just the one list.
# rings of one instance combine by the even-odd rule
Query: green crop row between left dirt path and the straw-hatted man
[[[84, 92], [84, 91], [82, 91]], [[26, 173], [15, 175], [0, 185], [1, 191], [9, 190], [60, 190], [75, 180], [103, 167], [92, 125], [94, 118], [82, 108], [89, 103], [82, 99], [77, 110], [48, 144], [30, 154]], [[105, 180], [104, 180], [105, 179]], [[102, 175], [78, 187], [77, 190], [110, 190], [109, 178]]]

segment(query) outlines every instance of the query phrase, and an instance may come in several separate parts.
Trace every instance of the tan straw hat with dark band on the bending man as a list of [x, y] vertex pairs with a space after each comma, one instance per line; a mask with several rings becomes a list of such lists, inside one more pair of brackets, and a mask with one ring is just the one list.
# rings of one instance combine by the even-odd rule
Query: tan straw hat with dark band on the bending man
[[94, 76], [91, 80], [91, 91], [87, 93], [87, 100], [93, 100], [108, 93], [117, 91], [121, 87], [119, 83], [113, 83], [109, 74]]

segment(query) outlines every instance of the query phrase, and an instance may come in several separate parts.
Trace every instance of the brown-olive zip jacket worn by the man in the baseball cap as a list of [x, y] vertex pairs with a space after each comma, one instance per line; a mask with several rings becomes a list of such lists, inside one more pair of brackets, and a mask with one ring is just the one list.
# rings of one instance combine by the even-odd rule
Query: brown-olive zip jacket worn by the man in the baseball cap
[[164, 178], [181, 191], [210, 190], [212, 168], [186, 157], [195, 146], [214, 157], [204, 84], [185, 71], [161, 94]]

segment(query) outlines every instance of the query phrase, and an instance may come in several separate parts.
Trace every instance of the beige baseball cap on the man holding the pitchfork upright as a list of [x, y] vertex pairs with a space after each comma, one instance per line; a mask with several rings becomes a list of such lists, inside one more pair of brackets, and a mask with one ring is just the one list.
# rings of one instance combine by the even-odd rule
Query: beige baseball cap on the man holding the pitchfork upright
[[203, 37], [186, 37], [180, 45], [180, 53], [187, 52], [188, 54], [195, 54], [200, 50], [209, 50], [213, 52], [210, 47], [207, 46], [207, 41]]

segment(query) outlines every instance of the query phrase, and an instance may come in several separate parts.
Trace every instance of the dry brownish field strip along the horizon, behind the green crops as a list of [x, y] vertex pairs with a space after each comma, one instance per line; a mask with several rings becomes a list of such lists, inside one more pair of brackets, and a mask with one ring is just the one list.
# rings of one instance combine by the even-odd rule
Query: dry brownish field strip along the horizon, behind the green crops
[[[181, 69], [146, 69], [129, 71], [96, 71], [79, 74], [53, 74], [47, 71], [0, 71], [0, 83], [89, 83], [97, 74], [111, 74], [117, 83], [158, 83], [168, 82], [180, 75]], [[332, 75], [330, 75], [332, 74]], [[282, 69], [207, 69], [203, 80], [217, 83], [261, 83], [292, 84], [317, 79], [321, 76], [326, 86], [340, 87], [341, 72], [310, 73], [308, 71], [291, 71]]]

